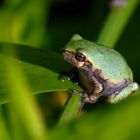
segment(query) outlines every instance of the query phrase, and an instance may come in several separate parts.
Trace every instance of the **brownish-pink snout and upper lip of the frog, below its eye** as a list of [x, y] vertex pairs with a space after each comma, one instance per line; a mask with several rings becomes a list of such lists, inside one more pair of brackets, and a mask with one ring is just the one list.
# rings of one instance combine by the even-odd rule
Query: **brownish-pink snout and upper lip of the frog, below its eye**
[[85, 62], [79, 62], [75, 58], [76, 53], [67, 50], [62, 51], [64, 59], [75, 67], [82, 68]]

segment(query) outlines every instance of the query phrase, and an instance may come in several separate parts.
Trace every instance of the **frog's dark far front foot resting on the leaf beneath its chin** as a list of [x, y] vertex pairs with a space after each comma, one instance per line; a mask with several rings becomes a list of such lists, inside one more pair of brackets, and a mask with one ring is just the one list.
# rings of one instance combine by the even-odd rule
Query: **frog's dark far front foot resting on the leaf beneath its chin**
[[75, 84], [79, 84], [77, 71], [70, 71], [70, 72], [62, 73], [62, 75], [60, 75], [59, 79], [61, 81], [70, 80]]

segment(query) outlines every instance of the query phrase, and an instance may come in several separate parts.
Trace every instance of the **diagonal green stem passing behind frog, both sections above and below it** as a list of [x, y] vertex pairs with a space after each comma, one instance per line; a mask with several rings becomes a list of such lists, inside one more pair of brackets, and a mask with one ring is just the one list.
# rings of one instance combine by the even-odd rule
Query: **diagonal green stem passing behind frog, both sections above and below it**
[[[97, 42], [114, 47], [138, 3], [139, 0], [129, 0], [126, 7], [113, 8], [105, 21]], [[70, 95], [59, 120], [59, 125], [75, 118], [80, 109], [80, 101], [76, 95]]]

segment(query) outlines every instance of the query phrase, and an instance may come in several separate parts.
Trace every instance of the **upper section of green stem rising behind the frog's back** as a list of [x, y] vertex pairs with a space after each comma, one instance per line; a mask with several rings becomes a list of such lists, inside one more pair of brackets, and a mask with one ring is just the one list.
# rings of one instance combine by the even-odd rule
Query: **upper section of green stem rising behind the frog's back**
[[138, 3], [139, 0], [128, 0], [126, 7], [113, 8], [104, 23], [97, 42], [114, 47]]

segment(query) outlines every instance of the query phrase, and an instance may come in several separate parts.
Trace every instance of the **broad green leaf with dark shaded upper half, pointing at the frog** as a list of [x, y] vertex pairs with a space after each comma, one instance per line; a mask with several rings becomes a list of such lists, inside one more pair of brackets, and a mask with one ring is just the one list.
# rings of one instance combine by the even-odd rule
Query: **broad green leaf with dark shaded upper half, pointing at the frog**
[[18, 52], [19, 63], [33, 93], [80, 90], [80, 87], [71, 81], [59, 80], [60, 74], [71, 69], [60, 54], [26, 45], [0, 43], [0, 103], [10, 100], [6, 83], [8, 75], [4, 70], [3, 59], [14, 57], [8, 52], [11, 47]]

